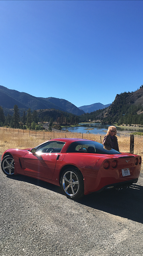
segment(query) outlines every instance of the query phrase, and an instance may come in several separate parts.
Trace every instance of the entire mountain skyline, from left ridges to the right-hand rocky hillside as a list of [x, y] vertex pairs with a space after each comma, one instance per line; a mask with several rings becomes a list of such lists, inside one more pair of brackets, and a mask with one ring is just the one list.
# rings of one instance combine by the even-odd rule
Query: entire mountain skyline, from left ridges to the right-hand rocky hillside
[[[77, 108], [71, 102], [54, 97], [34, 97], [24, 92], [0, 86], [0, 106], [4, 114], [13, 115], [14, 105], [18, 105], [20, 115], [24, 110], [63, 111], [79, 116], [79, 122], [100, 120], [103, 123], [143, 125], [143, 85], [134, 92], [117, 94], [112, 104], [94, 103]], [[86, 112], [86, 113], [85, 113]], [[50, 112], [46, 115], [49, 116]], [[61, 113], [61, 112], [60, 112]]]

